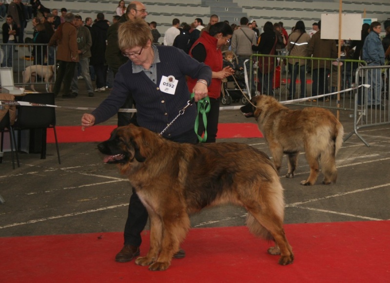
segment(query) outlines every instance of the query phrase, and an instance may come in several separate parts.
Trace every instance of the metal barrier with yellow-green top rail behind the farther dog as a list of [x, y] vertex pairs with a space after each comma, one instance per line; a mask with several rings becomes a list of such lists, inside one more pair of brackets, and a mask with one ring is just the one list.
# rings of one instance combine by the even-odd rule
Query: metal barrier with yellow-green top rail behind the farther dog
[[251, 94], [258, 91], [261, 94], [273, 95], [279, 101], [307, 98], [300, 104], [353, 111], [352, 91], [342, 93], [340, 101], [337, 101], [335, 94], [323, 99], [310, 97], [337, 92], [338, 76], [340, 91], [350, 89], [355, 83], [354, 74], [357, 68], [365, 64], [365, 61], [351, 59], [254, 54], [249, 80], [254, 79], [255, 90], [251, 89]]

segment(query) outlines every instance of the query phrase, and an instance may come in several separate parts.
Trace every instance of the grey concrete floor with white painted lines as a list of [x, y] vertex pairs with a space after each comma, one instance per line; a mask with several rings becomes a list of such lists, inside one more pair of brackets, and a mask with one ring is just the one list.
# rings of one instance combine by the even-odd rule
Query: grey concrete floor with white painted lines
[[[75, 99], [59, 97], [59, 106], [96, 107], [108, 92], [87, 97], [83, 82]], [[236, 104], [238, 105], [238, 104]], [[57, 109], [57, 125], [79, 125], [84, 111]], [[353, 129], [350, 112], [341, 112], [346, 134]], [[220, 123], [255, 123], [238, 110], [222, 111]], [[105, 124], [116, 124], [112, 118]], [[370, 143], [353, 135], [337, 156], [338, 180], [324, 186], [304, 187], [309, 167], [304, 156], [293, 179], [284, 160], [281, 182], [285, 189], [285, 223], [369, 221], [390, 219], [390, 126], [359, 131]], [[263, 138], [219, 139], [249, 144], [269, 154]], [[58, 164], [54, 144], [47, 158], [20, 154], [20, 168], [12, 170], [10, 153], [0, 164], [0, 237], [123, 231], [131, 189], [115, 166], [105, 165], [97, 143], [60, 144]], [[191, 217], [193, 227], [245, 225], [246, 211], [235, 206], [207, 208]], [[118, 248], [121, 243], [118, 243]]]

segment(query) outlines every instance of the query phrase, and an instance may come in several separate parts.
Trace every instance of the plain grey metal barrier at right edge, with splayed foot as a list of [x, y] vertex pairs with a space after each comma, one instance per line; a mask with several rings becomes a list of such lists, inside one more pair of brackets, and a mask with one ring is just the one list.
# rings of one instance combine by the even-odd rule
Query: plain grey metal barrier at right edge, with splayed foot
[[358, 133], [361, 128], [390, 124], [390, 66], [359, 67], [355, 74], [359, 84], [369, 84], [369, 88], [355, 90], [354, 127], [344, 140], [356, 134], [366, 146], [369, 143]]

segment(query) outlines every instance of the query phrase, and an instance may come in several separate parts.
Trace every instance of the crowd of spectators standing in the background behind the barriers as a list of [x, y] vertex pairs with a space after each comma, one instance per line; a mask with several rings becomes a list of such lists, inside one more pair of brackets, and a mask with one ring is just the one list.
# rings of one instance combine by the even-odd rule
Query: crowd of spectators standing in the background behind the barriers
[[[116, 53], [110, 54], [109, 52], [106, 52], [106, 46], [108, 46], [108, 50], [111, 50], [109, 45], [112, 45], [113, 42], [112, 38], [109, 38], [112, 35], [109, 27], [115, 26], [115, 29], [117, 29], [120, 22], [134, 18], [132, 16], [133, 14], [138, 15], [140, 13], [143, 15], [143, 19], [147, 16], [146, 8], [137, 10], [137, 7], [134, 8], [132, 3], [134, 6], [134, 3], [140, 2], [130, 2], [129, 5], [126, 6], [124, 0], [119, 0], [117, 7], [115, 8], [116, 15], [111, 21], [110, 19], [105, 19], [103, 13], [98, 13], [96, 17], [88, 17], [82, 22], [82, 26], [88, 30], [92, 39], [90, 50], [87, 52], [87, 54], [90, 53], [91, 55], [84, 57], [83, 60], [85, 61], [88, 59], [88, 75], [90, 76], [89, 79], [91, 79], [91, 81], [95, 81], [96, 86], [94, 90], [91, 91], [88, 75], [85, 73], [85, 65], [80, 63], [75, 64], [75, 73], [77, 74], [76, 78], [87, 80], [88, 93], [91, 97], [94, 95], [93, 92], [105, 92], [108, 88], [112, 88], [113, 77], [117, 73], [118, 66], [124, 61], [123, 58], [112, 59], [112, 57], [117, 56]], [[143, 4], [142, 6], [144, 7]], [[34, 64], [52, 65], [55, 62], [55, 49], [58, 47], [52, 45], [46, 49], [44, 48], [44, 44], [49, 42], [55, 31], [65, 22], [67, 12], [66, 8], [54, 8], [50, 10], [45, 7], [40, 0], [0, 0], [0, 17], [5, 17], [7, 19], [2, 26], [3, 43], [23, 43], [25, 39], [23, 29], [26, 26], [26, 21], [31, 20], [34, 33], [32, 41], [30, 42], [42, 44], [34, 46], [32, 52]], [[76, 18], [78, 19], [78, 17]], [[161, 34], [158, 31], [156, 21], [151, 21], [148, 24], [152, 31], [154, 44], [160, 44], [159, 42], [161, 42], [163, 45], [175, 46], [188, 54], [195, 41], [200, 38], [201, 34], [203, 32], [209, 32], [210, 27], [219, 21], [218, 15], [211, 15], [208, 24], [204, 24], [203, 19], [201, 18], [195, 18], [192, 23], [180, 22], [180, 19], [175, 18], [172, 21], [172, 26], [164, 31], [163, 37], [161, 37]], [[228, 23], [227, 21], [225, 22]], [[221, 46], [220, 49], [223, 52], [226, 52], [227, 50], [234, 52], [234, 55], [238, 58], [237, 68], [241, 69], [244, 66], [244, 61], [248, 60], [253, 53], [273, 55], [278, 52], [280, 53], [280, 50], [285, 50], [285, 54], [290, 53], [292, 56], [299, 57], [337, 57], [334, 52], [334, 40], [324, 41], [320, 39], [321, 22], [312, 23], [312, 28], [309, 31], [306, 31], [305, 24], [302, 20], [298, 21], [296, 25], [298, 27], [295, 31], [293, 27], [293, 30], [289, 35], [283, 27], [283, 22], [272, 23], [268, 21], [264, 23], [262, 32], [262, 29], [257, 25], [254, 19], [249, 20], [248, 18], [243, 17], [240, 19], [240, 24], [238, 26], [236, 24], [230, 25], [234, 31], [232, 39], [229, 40], [228, 44]], [[362, 26], [362, 39], [350, 42], [351, 48], [348, 49], [350, 58], [363, 58], [363, 45], [365, 38], [370, 32], [367, 25], [368, 24], [364, 24]], [[77, 28], [77, 30], [79, 30], [79, 28]], [[85, 30], [82, 30], [85, 34]], [[317, 36], [315, 36], [316, 34]], [[389, 38], [390, 27], [386, 30], [386, 37], [383, 39], [383, 49], [386, 58], [388, 58], [390, 54]], [[77, 40], [79, 43], [81, 38], [77, 37]], [[117, 40], [117, 38], [114, 37], [114, 41], [115, 40]], [[2, 48], [4, 53], [1, 62], [2, 66], [12, 66], [12, 47], [4, 45]], [[82, 54], [80, 54], [79, 57], [82, 57]], [[121, 63], [117, 64], [111, 62]], [[284, 61], [284, 63], [293, 78], [291, 79], [288, 89], [290, 92], [289, 97], [294, 98], [296, 92], [295, 78], [299, 76], [300, 80], [304, 81], [303, 75], [307, 72], [307, 66], [305, 66], [302, 60], [292, 61], [289, 59]], [[330, 87], [327, 85], [327, 80], [322, 79], [327, 77], [330, 73], [331, 66], [328, 66], [327, 64], [324, 63], [324, 66], [313, 66], [312, 68], [313, 70], [316, 70], [312, 73], [312, 78], [315, 82], [313, 86], [317, 86], [317, 88], [314, 87], [313, 94], [324, 94], [330, 90]], [[246, 67], [249, 70], [248, 61]], [[272, 75], [273, 72], [265, 72], [263, 69], [260, 69], [259, 72], [257, 72], [258, 77], [254, 78], [250, 84], [251, 91], [271, 94], [273, 88], [270, 83], [273, 80]], [[257, 89], [254, 89], [255, 80], [262, 82], [261, 86], [257, 87]], [[305, 87], [305, 82], [301, 83], [300, 94], [298, 96], [306, 96]], [[78, 91], [74, 87], [72, 93], [64, 93], [63, 95], [64, 97], [76, 97], [77, 93]]]

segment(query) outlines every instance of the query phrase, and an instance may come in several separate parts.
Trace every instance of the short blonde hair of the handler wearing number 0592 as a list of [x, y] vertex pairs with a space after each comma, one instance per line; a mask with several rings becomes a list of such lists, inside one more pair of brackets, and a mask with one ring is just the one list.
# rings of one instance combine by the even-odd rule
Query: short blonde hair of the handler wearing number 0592
[[140, 46], [145, 47], [148, 41], [153, 42], [152, 32], [144, 19], [128, 20], [119, 25], [118, 45], [124, 51]]

